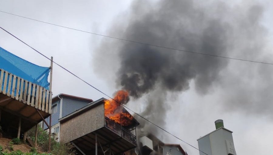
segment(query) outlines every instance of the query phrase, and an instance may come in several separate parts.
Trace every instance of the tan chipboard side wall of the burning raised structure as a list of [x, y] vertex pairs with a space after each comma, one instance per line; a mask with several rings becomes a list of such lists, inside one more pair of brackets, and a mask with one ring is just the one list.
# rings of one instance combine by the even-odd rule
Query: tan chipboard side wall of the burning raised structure
[[97, 104], [66, 122], [60, 122], [60, 141], [68, 143], [104, 126], [104, 104]]

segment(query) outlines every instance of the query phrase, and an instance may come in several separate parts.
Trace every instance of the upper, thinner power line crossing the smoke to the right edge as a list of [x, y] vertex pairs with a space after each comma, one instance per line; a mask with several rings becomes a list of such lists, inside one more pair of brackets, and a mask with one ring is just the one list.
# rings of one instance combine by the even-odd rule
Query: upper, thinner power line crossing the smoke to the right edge
[[1, 10], [0, 10], [0, 12], [7, 13], [7, 14], [10, 14], [10, 15], [13, 15], [13, 16], [22, 17], [22, 18], [25, 18], [25, 19], [34, 20], [34, 21], [37, 21], [37, 22], [43, 22], [43, 23], [46, 23], [46, 24], [63, 27], [63, 28], [66, 28], [66, 29], [72, 29], [72, 30], [76, 30], [76, 31], [84, 32], [84, 33], [94, 34], [94, 35], [98, 35], [98, 36], [104, 36], [104, 37], [108, 37], [108, 38], [112, 38], [112, 39], [117, 39], [117, 40], [123, 40], [123, 41], [131, 42], [131, 43], [139, 43], [139, 44], [148, 45], [148, 46], [165, 48], [165, 49], [169, 49], [169, 50], [177, 50], [177, 51], [182, 51], [182, 52], [187, 52], [187, 53], [193, 53], [193, 54], [201, 54], [201, 55], [211, 56], [211, 57], [219, 57], [219, 58], [225, 58], [225, 59], [231, 59], [231, 60], [240, 60], [240, 61], [248, 61], [248, 62], [253, 62], [253, 63], [273, 65], [273, 63], [254, 61], [254, 60], [245, 60], [245, 59], [239, 59], [239, 58], [234, 58], [234, 57], [225, 57], [225, 56], [219, 56], [219, 55], [207, 54], [207, 53], [200, 53], [200, 52], [193, 52], [193, 51], [181, 50], [181, 49], [171, 48], [171, 47], [166, 47], [166, 46], [154, 45], [154, 44], [150, 44], [150, 43], [143, 43], [143, 42], [138, 42], [138, 41], [133, 41], [133, 40], [127, 40], [127, 39], [117, 38], [117, 37], [113, 37], [113, 36], [107, 36], [107, 35], [103, 35], [103, 34], [99, 34], [99, 33], [88, 32], [88, 31], [84, 31], [84, 30], [80, 30], [80, 29], [74, 29], [74, 28], [67, 27], [67, 26], [61, 26], [61, 25], [50, 23], [50, 22], [44, 22], [44, 21], [41, 21], [41, 20], [32, 19], [32, 18], [29, 18], [29, 17], [24, 17], [24, 16], [16, 15], [16, 14], [12, 14], [12, 13], [1, 11]]

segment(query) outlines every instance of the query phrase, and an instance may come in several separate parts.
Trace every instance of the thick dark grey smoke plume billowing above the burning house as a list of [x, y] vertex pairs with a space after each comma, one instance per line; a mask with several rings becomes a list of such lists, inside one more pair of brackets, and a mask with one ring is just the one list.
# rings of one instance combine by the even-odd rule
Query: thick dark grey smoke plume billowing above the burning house
[[[262, 14], [263, 7], [256, 4], [136, 0], [130, 12], [116, 19], [110, 34], [175, 49], [225, 57], [247, 55], [242, 58], [252, 59], [255, 57], [251, 54], [261, 49], [265, 40], [266, 31], [260, 24]], [[168, 94], [188, 90], [191, 82], [199, 94], [206, 94], [214, 84], [221, 82], [220, 73], [231, 61], [109, 39], [99, 46], [96, 59], [99, 70], [115, 71], [118, 88], [129, 91], [135, 99], [147, 97], [141, 115], [160, 126], [165, 123]], [[140, 121], [140, 126], [143, 134], [156, 131], [145, 121]]]

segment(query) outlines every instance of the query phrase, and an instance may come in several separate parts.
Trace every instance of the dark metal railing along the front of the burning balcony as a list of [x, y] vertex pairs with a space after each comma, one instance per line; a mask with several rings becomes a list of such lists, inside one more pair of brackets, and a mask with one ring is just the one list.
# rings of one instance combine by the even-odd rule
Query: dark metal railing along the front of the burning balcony
[[117, 124], [116, 122], [112, 121], [111, 119], [104, 117], [104, 126], [108, 129], [112, 130], [116, 134], [120, 135], [122, 138], [128, 140], [129, 142], [136, 145], [136, 136], [130, 133], [130, 131], [123, 128], [121, 125]]

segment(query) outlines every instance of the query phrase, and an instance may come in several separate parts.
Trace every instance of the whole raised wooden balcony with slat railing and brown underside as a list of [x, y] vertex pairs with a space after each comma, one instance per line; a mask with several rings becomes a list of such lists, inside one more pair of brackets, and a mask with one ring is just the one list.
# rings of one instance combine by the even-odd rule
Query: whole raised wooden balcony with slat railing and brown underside
[[22, 130], [27, 131], [51, 114], [51, 91], [3, 69], [0, 73], [1, 124], [18, 126], [12, 118], [19, 116]]

